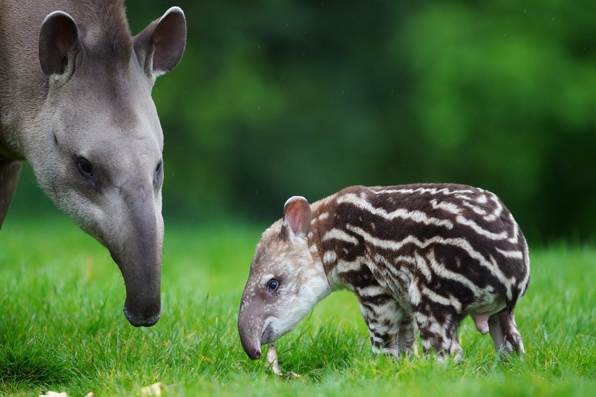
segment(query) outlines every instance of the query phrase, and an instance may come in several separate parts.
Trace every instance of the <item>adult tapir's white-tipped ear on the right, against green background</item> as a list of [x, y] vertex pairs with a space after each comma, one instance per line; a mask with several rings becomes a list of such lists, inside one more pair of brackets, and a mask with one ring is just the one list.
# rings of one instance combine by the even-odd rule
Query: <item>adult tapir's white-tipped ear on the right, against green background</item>
[[179, 7], [172, 7], [135, 36], [139, 64], [151, 79], [178, 65], [186, 45], [186, 19]]

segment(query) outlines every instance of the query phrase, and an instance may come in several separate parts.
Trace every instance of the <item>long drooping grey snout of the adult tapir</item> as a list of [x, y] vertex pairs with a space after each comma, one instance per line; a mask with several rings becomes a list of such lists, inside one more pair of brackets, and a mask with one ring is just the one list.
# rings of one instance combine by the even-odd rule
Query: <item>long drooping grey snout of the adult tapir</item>
[[161, 314], [163, 219], [152, 193], [142, 185], [125, 193], [126, 221], [117, 223], [122, 233], [108, 246], [124, 278], [124, 314], [135, 327], [151, 327]]

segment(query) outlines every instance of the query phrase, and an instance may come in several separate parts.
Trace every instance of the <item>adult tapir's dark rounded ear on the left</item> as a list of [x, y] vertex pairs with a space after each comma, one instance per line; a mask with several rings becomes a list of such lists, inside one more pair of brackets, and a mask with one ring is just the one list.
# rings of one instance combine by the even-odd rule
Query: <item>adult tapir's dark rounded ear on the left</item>
[[61, 75], [74, 61], [79, 45], [75, 20], [64, 11], [45, 17], [39, 31], [39, 63], [46, 76]]

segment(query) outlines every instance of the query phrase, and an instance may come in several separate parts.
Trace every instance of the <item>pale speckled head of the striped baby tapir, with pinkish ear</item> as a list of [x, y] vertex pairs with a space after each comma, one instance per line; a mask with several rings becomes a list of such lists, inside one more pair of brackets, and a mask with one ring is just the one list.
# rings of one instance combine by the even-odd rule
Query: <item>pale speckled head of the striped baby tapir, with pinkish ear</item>
[[238, 314], [240, 341], [253, 360], [260, 358], [260, 345], [293, 330], [330, 293], [316, 248], [309, 248], [310, 229], [311, 208], [294, 196], [257, 244]]

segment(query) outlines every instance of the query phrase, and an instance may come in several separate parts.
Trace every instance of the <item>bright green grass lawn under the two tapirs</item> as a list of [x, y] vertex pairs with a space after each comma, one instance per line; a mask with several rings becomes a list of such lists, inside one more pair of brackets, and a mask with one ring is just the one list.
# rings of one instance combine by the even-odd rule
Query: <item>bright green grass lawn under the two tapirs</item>
[[532, 280], [516, 310], [526, 355], [507, 363], [468, 318], [464, 360], [373, 357], [356, 299], [322, 301], [276, 344], [284, 381], [250, 361], [236, 318], [260, 227], [166, 229], [162, 318], [135, 329], [105, 249], [66, 218], [9, 217], [0, 232], [0, 395], [42, 389], [70, 397], [140, 395], [596, 395], [596, 249], [532, 249]]

